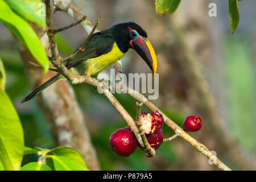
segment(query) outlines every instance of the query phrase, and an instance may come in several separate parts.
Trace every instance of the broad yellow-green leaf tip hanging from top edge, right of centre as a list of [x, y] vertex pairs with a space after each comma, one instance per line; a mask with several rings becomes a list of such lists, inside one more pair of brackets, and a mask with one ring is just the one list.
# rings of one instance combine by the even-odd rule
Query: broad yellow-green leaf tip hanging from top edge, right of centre
[[155, 0], [155, 12], [162, 15], [168, 11], [173, 14], [180, 5], [181, 0]]

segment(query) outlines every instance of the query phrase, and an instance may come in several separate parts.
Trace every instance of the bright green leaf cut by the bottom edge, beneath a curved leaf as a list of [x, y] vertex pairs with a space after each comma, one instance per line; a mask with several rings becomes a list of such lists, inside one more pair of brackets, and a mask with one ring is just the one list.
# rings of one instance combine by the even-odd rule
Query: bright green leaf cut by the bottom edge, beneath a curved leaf
[[64, 156], [50, 155], [56, 171], [88, 171], [88, 168]]

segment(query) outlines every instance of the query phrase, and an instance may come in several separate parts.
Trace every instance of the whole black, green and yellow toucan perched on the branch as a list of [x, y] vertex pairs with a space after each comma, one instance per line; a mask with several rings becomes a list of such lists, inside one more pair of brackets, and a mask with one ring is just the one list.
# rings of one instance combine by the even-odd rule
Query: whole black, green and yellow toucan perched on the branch
[[[142, 57], [155, 74], [157, 68], [155, 51], [147, 40], [146, 31], [134, 22], [115, 24], [112, 28], [94, 33], [86, 44], [85, 50], [67, 61], [65, 67], [75, 75], [96, 77], [103, 69], [125, 56], [130, 48]], [[57, 73], [28, 94], [21, 102], [31, 100], [61, 78], [64, 77]]]

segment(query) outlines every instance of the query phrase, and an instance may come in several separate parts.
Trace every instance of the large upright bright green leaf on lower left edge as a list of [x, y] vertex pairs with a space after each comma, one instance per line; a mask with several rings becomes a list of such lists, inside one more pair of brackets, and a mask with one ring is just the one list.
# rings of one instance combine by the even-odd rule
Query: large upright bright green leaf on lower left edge
[[23, 130], [7, 93], [0, 94], [0, 160], [6, 170], [19, 170], [23, 157]]

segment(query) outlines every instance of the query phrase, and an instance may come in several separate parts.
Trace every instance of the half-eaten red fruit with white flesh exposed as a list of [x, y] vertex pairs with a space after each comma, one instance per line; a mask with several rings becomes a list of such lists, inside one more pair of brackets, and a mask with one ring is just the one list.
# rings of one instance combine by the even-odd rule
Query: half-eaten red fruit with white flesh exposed
[[158, 111], [152, 111], [152, 114], [144, 112], [141, 114], [142, 128], [145, 134], [153, 134], [163, 126], [163, 115]]

